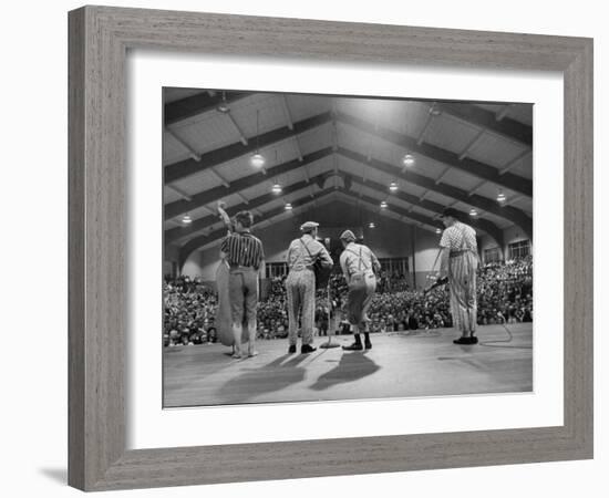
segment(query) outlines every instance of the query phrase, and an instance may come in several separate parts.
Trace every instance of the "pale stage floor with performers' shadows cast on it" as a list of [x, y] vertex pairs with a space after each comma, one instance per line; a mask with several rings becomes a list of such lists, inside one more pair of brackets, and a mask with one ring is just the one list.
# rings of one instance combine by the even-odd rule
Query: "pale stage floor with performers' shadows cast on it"
[[[221, 344], [164, 349], [164, 406], [370, 400], [533, 390], [533, 323], [478, 328], [456, 345], [453, 329], [371, 334], [372, 350], [287, 354], [288, 340], [257, 341], [259, 355], [233, 360]], [[352, 335], [332, 338], [347, 345]]]

